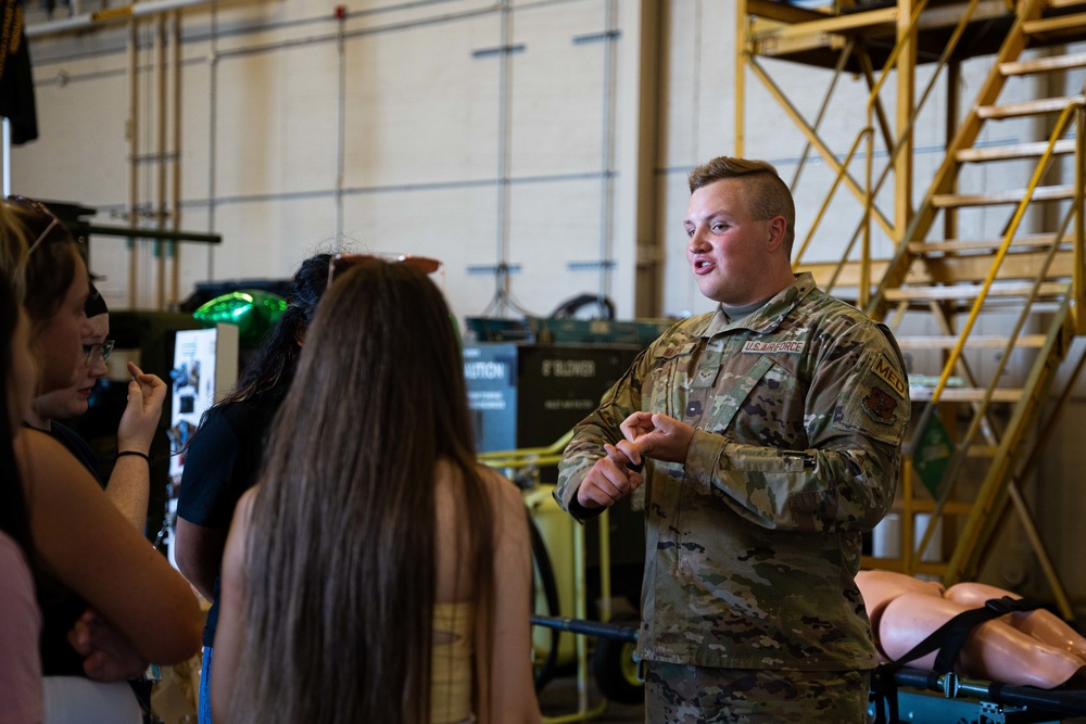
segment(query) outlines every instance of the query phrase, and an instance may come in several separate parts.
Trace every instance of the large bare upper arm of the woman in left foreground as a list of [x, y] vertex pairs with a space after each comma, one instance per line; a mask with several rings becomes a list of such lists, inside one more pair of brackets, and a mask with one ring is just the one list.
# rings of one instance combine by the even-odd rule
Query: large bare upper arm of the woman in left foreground
[[42, 566], [143, 658], [176, 663], [200, 648], [188, 584], [102, 495], [56, 441], [21, 431], [15, 457]]

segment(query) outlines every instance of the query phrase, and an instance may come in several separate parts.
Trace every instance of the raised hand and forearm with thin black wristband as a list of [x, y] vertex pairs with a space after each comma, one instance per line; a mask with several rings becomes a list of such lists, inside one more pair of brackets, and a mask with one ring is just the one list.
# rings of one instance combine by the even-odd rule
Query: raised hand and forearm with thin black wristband
[[[132, 363], [128, 363], [128, 372], [132, 380], [128, 383], [128, 405], [117, 429], [117, 452], [147, 455], [162, 417], [166, 383], [154, 374], [144, 374]], [[117, 458], [105, 486], [105, 494], [113, 505], [141, 533], [147, 525], [150, 484], [148, 461], [138, 455], [125, 455]]]

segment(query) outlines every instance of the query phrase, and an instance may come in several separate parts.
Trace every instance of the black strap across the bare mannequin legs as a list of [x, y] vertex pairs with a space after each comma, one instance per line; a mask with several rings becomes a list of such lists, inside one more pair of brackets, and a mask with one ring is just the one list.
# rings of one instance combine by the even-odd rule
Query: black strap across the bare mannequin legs
[[871, 698], [875, 702], [875, 724], [897, 724], [898, 722], [897, 683], [894, 681], [894, 673], [898, 669], [911, 661], [922, 659], [932, 651], [938, 651], [931, 677], [934, 683], [943, 674], [954, 671], [958, 655], [961, 653], [969, 634], [975, 626], [1007, 613], [1033, 611], [1041, 606], [1037, 601], [1009, 596], [988, 599], [984, 602], [983, 608], [962, 611], [944, 623], [897, 661], [877, 666], [871, 682]]

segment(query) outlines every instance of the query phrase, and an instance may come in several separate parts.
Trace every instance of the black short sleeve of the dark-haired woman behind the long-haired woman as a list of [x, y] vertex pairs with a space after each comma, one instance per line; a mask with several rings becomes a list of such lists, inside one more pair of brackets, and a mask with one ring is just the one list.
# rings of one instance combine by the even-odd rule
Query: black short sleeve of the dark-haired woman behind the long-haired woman
[[192, 436], [185, 455], [177, 515], [204, 528], [226, 529], [244, 490], [235, 490], [240, 443], [223, 415], [213, 411]]

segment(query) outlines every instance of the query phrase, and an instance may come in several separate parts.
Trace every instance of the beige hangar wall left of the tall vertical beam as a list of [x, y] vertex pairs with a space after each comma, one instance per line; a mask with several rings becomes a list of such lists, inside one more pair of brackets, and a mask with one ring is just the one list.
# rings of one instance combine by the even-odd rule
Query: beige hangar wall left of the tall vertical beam
[[[358, 0], [344, 3], [344, 21], [311, 0], [189, 8], [180, 226], [224, 243], [181, 246], [178, 296], [204, 279], [287, 276], [342, 246], [443, 259], [460, 316], [546, 315], [584, 292], [633, 316], [640, 4]], [[159, 145], [156, 34], [154, 20], [140, 23], [144, 212], [157, 206], [155, 157], [174, 149]], [[14, 150], [14, 191], [124, 223], [128, 36], [127, 24], [105, 24], [34, 39], [41, 138]], [[144, 213], [143, 223], [154, 220]], [[141, 242], [135, 264], [136, 306], [155, 306], [156, 244]], [[501, 264], [512, 272], [498, 300]], [[118, 306], [132, 291], [128, 265], [124, 240], [94, 239], [93, 270]]]

